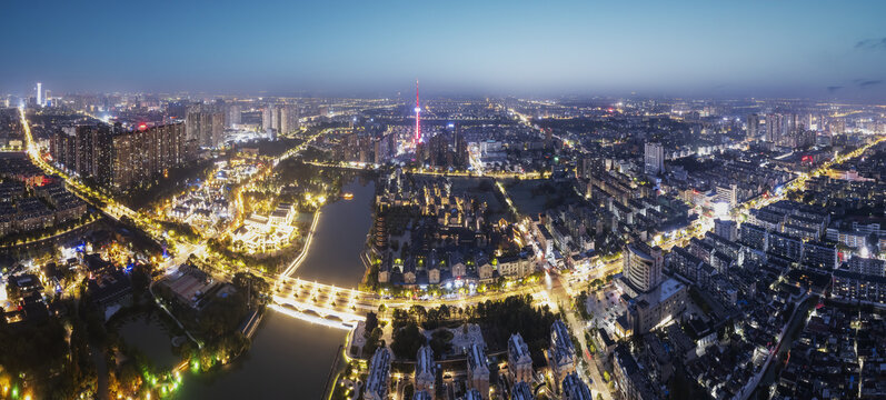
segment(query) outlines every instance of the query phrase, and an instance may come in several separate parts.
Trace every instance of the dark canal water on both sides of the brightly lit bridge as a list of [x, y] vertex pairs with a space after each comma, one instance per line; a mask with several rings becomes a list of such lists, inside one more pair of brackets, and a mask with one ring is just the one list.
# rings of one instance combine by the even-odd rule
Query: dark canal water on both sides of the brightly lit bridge
[[[308, 257], [293, 276], [356, 288], [360, 252], [372, 222], [375, 183], [355, 179], [322, 209]], [[321, 399], [346, 332], [269, 310], [249, 352], [221, 371], [186, 379], [180, 399]]]

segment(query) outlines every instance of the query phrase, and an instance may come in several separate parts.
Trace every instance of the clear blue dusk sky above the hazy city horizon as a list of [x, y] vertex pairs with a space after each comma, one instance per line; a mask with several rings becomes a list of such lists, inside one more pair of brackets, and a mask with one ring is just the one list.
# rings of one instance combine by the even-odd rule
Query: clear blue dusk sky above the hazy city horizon
[[886, 1], [3, 1], [0, 92], [886, 101]]

